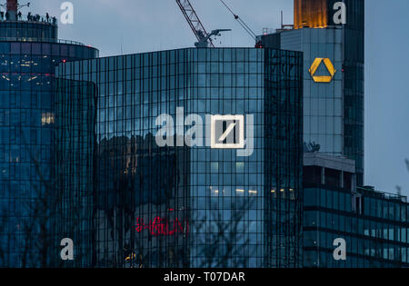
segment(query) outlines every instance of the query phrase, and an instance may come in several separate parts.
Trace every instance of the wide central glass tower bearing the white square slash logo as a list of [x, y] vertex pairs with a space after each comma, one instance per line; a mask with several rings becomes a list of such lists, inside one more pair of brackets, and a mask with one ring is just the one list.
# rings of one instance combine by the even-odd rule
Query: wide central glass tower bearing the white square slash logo
[[254, 48], [60, 64], [66, 266], [301, 266], [302, 68]]

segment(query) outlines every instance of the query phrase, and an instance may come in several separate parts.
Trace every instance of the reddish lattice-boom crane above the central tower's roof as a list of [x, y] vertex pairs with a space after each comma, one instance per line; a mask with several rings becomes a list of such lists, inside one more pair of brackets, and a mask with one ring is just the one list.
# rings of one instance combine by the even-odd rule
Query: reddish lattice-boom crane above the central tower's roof
[[214, 47], [212, 36], [220, 36], [222, 32], [232, 31], [230, 29], [217, 29], [213, 30], [210, 34], [206, 32], [205, 26], [197, 16], [194, 7], [190, 4], [189, 0], [175, 0], [179, 5], [182, 13], [185, 15], [187, 23], [190, 25], [194, 32], [197, 41], [195, 47]]

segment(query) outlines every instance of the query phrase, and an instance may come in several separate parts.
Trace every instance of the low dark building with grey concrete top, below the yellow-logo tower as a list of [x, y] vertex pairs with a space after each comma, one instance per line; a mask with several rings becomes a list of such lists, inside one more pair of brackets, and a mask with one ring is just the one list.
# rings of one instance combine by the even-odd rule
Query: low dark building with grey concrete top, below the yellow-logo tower
[[[356, 187], [354, 161], [304, 155], [304, 267], [408, 268], [407, 198]], [[334, 260], [334, 240], [346, 242]]]

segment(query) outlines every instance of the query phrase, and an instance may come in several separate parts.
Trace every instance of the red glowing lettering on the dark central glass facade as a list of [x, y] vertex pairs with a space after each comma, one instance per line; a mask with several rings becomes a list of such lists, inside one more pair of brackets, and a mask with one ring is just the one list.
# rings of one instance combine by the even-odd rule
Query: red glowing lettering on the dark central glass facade
[[136, 232], [141, 233], [147, 230], [153, 236], [172, 236], [177, 233], [185, 233], [186, 236], [189, 233], [189, 221], [187, 219], [182, 222], [179, 219], [175, 221], [169, 221], [165, 218], [156, 216], [154, 221], [149, 221], [145, 224], [144, 219], [136, 219]]

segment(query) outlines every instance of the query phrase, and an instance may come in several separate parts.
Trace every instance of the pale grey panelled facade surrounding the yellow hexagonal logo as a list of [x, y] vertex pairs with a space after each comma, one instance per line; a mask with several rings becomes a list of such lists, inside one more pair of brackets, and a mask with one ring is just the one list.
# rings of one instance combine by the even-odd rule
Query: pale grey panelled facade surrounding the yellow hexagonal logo
[[[320, 152], [344, 154], [343, 52], [341, 29], [301, 29], [281, 35], [281, 45], [304, 52], [304, 143]], [[329, 58], [336, 73], [330, 83], [315, 83], [309, 69], [316, 58]], [[324, 63], [316, 75], [328, 74]]]

